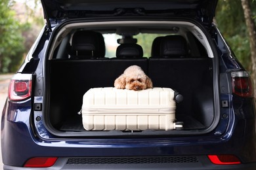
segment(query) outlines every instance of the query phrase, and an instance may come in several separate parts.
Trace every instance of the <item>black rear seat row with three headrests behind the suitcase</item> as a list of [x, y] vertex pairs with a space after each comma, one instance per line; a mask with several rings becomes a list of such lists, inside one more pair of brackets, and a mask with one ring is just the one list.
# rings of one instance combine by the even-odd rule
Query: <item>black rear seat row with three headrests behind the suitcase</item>
[[[89, 38], [81, 41], [85, 35]], [[209, 73], [211, 62], [209, 58], [184, 58], [188, 56], [186, 41], [182, 37], [171, 36], [158, 38], [155, 47], [152, 47], [156, 48], [154, 55], [157, 56], [149, 59], [142, 58], [143, 50], [137, 44], [121, 44], [117, 48], [117, 58], [103, 59], [105, 47], [103, 50], [98, 33], [79, 31], [73, 37], [72, 59], [49, 60], [50, 98], [58, 102], [51, 105], [51, 111], [56, 107], [68, 109], [63, 111], [65, 113], [78, 112], [87, 90], [114, 86], [114, 80], [127, 67], [139, 65], [152, 79], [154, 87], [173, 88], [184, 96], [184, 101], [177, 105], [177, 112], [190, 112], [192, 91], [206, 83], [203, 82], [204, 75]], [[59, 107], [61, 105], [70, 107]]]

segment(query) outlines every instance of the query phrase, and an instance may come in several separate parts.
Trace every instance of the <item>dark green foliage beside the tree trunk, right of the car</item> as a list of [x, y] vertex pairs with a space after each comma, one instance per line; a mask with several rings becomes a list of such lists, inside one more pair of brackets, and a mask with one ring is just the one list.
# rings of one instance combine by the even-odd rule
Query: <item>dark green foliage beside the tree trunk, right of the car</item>
[[[250, 0], [251, 12], [256, 16], [256, 2]], [[254, 17], [256, 22], [256, 18]], [[251, 70], [250, 48], [245, 25], [244, 12], [240, 0], [219, 0], [215, 22], [226, 41], [232, 48], [236, 58], [247, 71]], [[256, 30], [255, 30], [256, 31]]]

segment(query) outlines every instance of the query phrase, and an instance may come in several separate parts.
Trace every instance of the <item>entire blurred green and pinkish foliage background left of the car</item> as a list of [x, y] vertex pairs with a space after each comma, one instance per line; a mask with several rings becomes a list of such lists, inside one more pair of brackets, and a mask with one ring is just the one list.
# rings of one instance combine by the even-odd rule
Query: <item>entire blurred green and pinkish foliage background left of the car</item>
[[43, 25], [34, 10], [38, 2], [0, 0], [0, 73], [17, 71], [37, 37]]

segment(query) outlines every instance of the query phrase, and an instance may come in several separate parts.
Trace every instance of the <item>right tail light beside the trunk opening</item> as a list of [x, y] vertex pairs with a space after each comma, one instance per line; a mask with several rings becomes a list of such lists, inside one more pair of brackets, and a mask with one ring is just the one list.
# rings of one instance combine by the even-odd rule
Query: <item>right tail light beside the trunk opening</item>
[[241, 97], [253, 97], [253, 84], [246, 71], [237, 71], [231, 73], [232, 92]]

